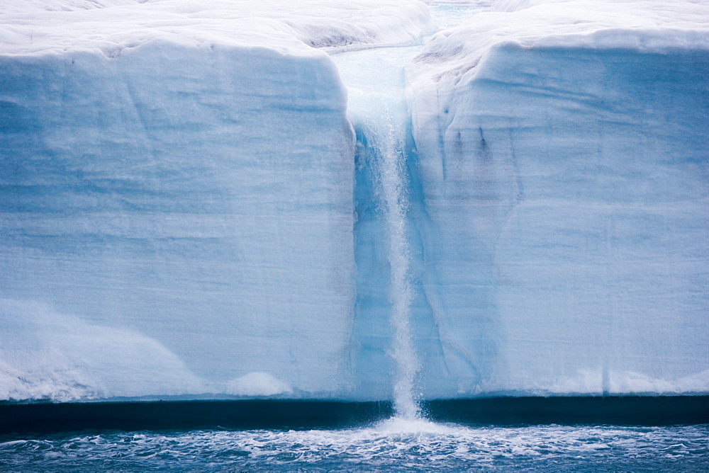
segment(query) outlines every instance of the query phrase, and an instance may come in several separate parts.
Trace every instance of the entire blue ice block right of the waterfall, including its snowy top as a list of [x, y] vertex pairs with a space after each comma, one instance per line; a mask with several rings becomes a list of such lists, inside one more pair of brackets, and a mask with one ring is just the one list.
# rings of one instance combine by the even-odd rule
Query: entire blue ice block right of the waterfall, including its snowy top
[[428, 389], [707, 392], [709, 5], [491, 9], [408, 67]]

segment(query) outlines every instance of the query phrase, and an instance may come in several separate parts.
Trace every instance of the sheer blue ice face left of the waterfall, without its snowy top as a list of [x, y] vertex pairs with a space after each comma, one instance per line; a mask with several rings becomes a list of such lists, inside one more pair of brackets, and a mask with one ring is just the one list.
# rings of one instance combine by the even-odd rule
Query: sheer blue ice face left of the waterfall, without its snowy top
[[[324, 53], [153, 43], [2, 57], [0, 71], [0, 286], [25, 304], [4, 306], [14, 370], [55, 351], [57, 370], [81, 372], [106, 341], [77, 331], [96, 326], [116, 348], [84, 394], [229, 392], [262, 371], [340, 388], [354, 141]], [[135, 353], [136, 334], [203, 384]]]

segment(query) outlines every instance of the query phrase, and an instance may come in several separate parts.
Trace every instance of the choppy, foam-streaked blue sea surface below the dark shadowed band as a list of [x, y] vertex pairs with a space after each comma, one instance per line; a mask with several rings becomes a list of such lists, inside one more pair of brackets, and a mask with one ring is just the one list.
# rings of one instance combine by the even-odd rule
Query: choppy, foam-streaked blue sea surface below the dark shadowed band
[[709, 424], [467, 427], [390, 419], [308, 431], [3, 438], [2, 471], [709, 471]]

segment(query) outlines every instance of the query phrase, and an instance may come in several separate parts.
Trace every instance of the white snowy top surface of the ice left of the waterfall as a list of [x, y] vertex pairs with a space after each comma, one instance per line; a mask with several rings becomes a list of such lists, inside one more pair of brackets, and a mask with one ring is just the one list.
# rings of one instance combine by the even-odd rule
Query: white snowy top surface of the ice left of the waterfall
[[3, 52], [98, 49], [106, 55], [163, 40], [313, 54], [419, 42], [434, 25], [416, 0], [30, 0], [0, 2]]

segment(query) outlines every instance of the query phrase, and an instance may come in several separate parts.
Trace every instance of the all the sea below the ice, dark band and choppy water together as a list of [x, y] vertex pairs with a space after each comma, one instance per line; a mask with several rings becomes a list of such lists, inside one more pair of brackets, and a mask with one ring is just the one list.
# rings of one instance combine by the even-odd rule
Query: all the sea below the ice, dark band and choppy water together
[[[704, 471], [709, 397], [0, 405], [3, 471]], [[435, 422], [432, 422], [435, 421]], [[455, 422], [455, 423], [451, 423]]]

